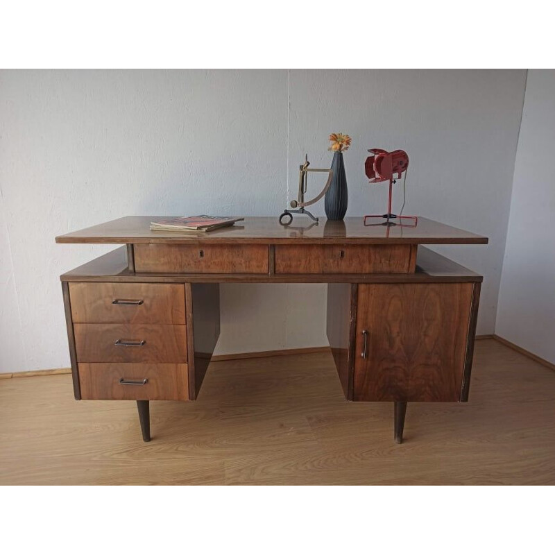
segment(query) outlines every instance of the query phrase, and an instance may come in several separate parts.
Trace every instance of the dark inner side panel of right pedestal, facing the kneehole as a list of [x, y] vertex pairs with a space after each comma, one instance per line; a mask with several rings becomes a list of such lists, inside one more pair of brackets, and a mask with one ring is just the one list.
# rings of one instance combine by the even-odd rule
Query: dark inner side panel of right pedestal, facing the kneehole
[[355, 335], [357, 285], [327, 285], [327, 340], [345, 398], [352, 398], [352, 341]]

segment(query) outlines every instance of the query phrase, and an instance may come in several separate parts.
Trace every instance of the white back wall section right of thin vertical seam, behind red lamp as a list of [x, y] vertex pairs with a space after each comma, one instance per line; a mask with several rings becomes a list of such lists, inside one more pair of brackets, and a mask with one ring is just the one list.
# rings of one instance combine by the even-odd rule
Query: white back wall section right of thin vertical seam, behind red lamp
[[[348, 216], [385, 212], [387, 187], [367, 185], [366, 151], [407, 151], [404, 213], [490, 238], [488, 246], [436, 250], [484, 275], [477, 333], [491, 334], [525, 81], [526, 71], [291, 71], [289, 196], [298, 153], [307, 150], [315, 167], [325, 164], [327, 133], [340, 130], [353, 144], [344, 155]], [[397, 187], [393, 212], [401, 203]]]

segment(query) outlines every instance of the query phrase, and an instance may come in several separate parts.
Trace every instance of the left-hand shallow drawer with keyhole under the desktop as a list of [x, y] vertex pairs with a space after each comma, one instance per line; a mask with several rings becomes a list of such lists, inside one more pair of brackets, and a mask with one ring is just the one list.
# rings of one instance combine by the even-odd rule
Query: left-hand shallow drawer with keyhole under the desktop
[[267, 245], [135, 245], [136, 272], [268, 273]]

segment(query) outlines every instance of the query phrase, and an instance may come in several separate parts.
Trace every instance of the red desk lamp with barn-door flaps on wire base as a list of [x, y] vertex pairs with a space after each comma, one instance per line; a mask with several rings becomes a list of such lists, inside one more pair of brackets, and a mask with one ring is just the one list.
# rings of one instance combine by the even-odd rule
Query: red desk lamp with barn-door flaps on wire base
[[[415, 228], [418, 223], [418, 216], [397, 216], [391, 214], [391, 194], [393, 192], [393, 183], [401, 178], [404, 172], [404, 178], [407, 179], [407, 168], [409, 167], [409, 156], [405, 151], [388, 152], [382, 148], [370, 148], [368, 152], [373, 153], [373, 156], [366, 158], [364, 169], [366, 176], [370, 179], [370, 183], [380, 183], [389, 181], [389, 200], [387, 205], [387, 214], [368, 214], [364, 216], [364, 225], [400, 225], [401, 227]], [[393, 176], [397, 174], [395, 179]], [[404, 206], [404, 203], [403, 203]], [[402, 209], [401, 209], [402, 212]], [[385, 221], [378, 223], [366, 223], [368, 218], [382, 218]], [[399, 223], [391, 220], [398, 219]], [[403, 223], [403, 220], [411, 220], [412, 223]]]

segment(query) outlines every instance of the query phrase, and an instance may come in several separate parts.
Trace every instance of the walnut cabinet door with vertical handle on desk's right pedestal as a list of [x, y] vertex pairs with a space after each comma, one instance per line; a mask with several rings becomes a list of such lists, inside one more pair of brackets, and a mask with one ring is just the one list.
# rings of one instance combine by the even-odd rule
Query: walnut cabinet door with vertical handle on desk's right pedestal
[[473, 287], [360, 284], [354, 400], [461, 400]]

